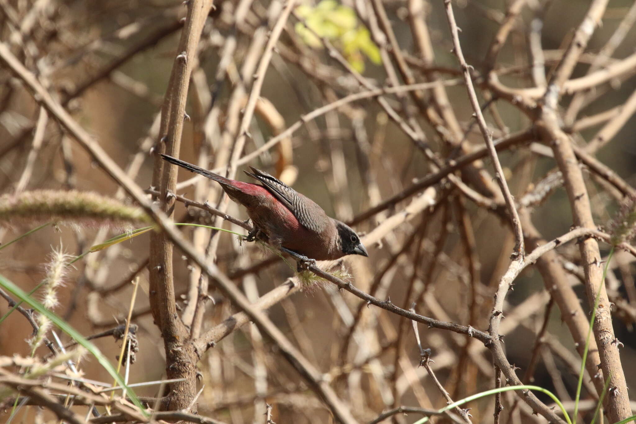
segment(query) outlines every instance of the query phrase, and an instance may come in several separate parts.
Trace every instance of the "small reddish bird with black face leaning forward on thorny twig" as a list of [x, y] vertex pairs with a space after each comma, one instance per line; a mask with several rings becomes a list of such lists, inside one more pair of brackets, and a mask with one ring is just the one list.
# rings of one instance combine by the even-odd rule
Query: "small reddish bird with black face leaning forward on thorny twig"
[[289, 253], [298, 270], [315, 261], [338, 259], [346, 255], [369, 256], [356, 231], [344, 222], [328, 217], [310, 198], [301, 195], [279, 179], [256, 168], [245, 174], [262, 185], [221, 177], [207, 169], [161, 154], [164, 160], [219, 184], [236, 203], [247, 208], [254, 230], [247, 240], [265, 235], [270, 245]]

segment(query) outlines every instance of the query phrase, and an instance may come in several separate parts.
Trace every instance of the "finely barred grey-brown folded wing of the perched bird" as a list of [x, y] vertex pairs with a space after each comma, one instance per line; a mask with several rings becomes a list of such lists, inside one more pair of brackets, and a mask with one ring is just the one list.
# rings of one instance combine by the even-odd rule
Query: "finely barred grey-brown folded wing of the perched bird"
[[[287, 184], [276, 177], [273, 177], [259, 169], [253, 167], [250, 168], [252, 173], [245, 171], [245, 174], [260, 181], [275, 198], [280, 200], [287, 209], [291, 210], [291, 213], [294, 214], [296, 219], [298, 219], [298, 222], [300, 222], [303, 227], [312, 231], [322, 230], [324, 226], [323, 218], [326, 218], [326, 214], [319, 205], [315, 204], [313, 200], [300, 195], [296, 190], [287, 186]], [[322, 214], [320, 214], [321, 216], [312, 216], [309, 210], [309, 203], [314, 203], [315, 205], [315, 207], [312, 208], [312, 210], [315, 211], [314, 215], [322, 212]]]

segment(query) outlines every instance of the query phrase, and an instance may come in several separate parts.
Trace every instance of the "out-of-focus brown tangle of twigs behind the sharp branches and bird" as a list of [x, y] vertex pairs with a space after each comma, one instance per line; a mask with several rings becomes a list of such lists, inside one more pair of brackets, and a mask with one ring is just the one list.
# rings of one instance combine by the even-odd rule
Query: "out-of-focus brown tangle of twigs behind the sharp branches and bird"
[[[385, 57], [380, 54], [382, 43], [373, 31], [366, 31], [371, 26], [370, 16], [372, 21], [376, 19], [371, 3], [328, 1], [302, 3], [287, 23], [266, 72], [261, 100], [250, 127], [251, 137], [243, 154], [263, 146], [301, 116], [360, 90], [356, 79], [330, 57], [315, 33], [303, 31], [302, 22], [308, 25], [318, 22], [313, 30], [324, 31], [321, 35], [331, 40], [336, 50], [342, 51], [354, 69], [373, 85], [391, 85], [383, 64]], [[158, 142], [158, 114], [174, 57], [179, 53], [177, 43], [182, 28], [179, 20], [186, 8], [181, 2], [160, 0], [8, 0], [0, 3], [0, 39], [141, 188], [150, 188], [156, 160], [151, 151]], [[434, 53], [432, 62], [424, 60], [413, 37], [410, 20], [413, 3], [424, 8]], [[485, 57], [511, 3], [453, 2], [457, 24], [462, 30], [460, 41], [464, 55], [474, 66], [476, 76], [488, 66]], [[539, 36], [546, 61], [544, 69], [549, 77], [588, 8], [586, 1], [549, 0], [546, 4], [532, 0], [526, 3], [494, 67], [501, 82], [513, 88], [534, 86], [529, 53], [532, 23], [543, 25]], [[389, 0], [382, 4], [415, 81], [461, 79], [452, 53], [443, 2]], [[202, 33], [198, 65], [191, 78], [186, 107], [190, 120], [184, 124], [179, 156], [183, 160], [211, 169], [226, 169], [232, 140], [238, 133], [240, 109], [245, 106], [255, 65], [262, 54], [263, 46], [258, 44], [262, 41], [258, 40], [266, 41], [268, 28], [272, 27], [281, 8], [282, 4], [277, 1], [216, 2], [216, 10], [211, 12]], [[632, 9], [632, 2], [628, 0], [609, 2], [603, 24], [588, 44], [573, 78], [590, 71], [596, 53], [606, 45], [626, 15], [633, 13]], [[354, 31], [354, 35], [347, 31]], [[627, 27], [624, 41], [604, 65], [632, 55], [635, 39], [636, 30]], [[587, 116], [597, 116], [623, 105], [636, 90], [635, 73], [636, 69], [631, 69], [586, 92], [586, 102], [574, 116], [567, 116], [573, 96], [564, 97], [560, 104], [562, 116], [567, 118], [563, 126], [571, 128]], [[480, 78], [476, 77], [478, 87], [483, 83]], [[404, 83], [402, 78], [400, 83]], [[473, 109], [467, 100], [466, 87], [463, 83], [454, 83], [446, 87], [446, 93], [464, 132], [461, 148], [470, 151], [483, 146], [483, 137], [471, 118]], [[492, 100], [488, 90], [480, 88], [478, 94], [495, 139], [530, 127], [529, 118], [518, 107], [505, 100]], [[432, 151], [441, 158], [457, 157], [457, 151], [441, 141], [438, 130], [410, 97], [387, 95], [387, 99], [402, 116], [422, 125]], [[36, 189], [74, 189], [130, 204], [117, 184], [93, 163], [57, 120], [48, 117], [48, 122], [39, 125], [40, 114], [38, 104], [20, 80], [6, 67], [0, 68], [1, 201], [8, 202], [8, 196], [18, 189], [22, 193]], [[572, 137], [584, 146], [605, 121], [571, 131]], [[39, 137], [34, 137], [36, 126], [43, 130]], [[632, 185], [636, 182], [635, 131], [636, 120], [627, 120], [611, 142], [597, 152], [598, 160]], [[545, 151], [532, 149], [531, 141], [534, 140], [529, 139], [500, 154], [504, 174], [516, 198], [532, 191], [537, 182], [555, 169], [553, 158]], [[375, 99], [351, 102], [303, 123], [291, 137], [259, 154], [249, 165], [276, 175], [319, 203], [329, 215], [345, 222], [400, 193], [411, 186], [414, 179], [432, 172], [431, 161], [422, 149], [387, 116]], [[483, 167], [493, 175], [489, 160], [483, 161]], [[26, 176], [25, 169], [29, 170]], [[619, 209], [620, 198], [595, 175], [590, 172], [584, 175], [595, 222], [609, 226]], [[180, 171], [178, 181], [192, 177], [193, 174]], [[237, 178], [248, 180], [242, 172], [237, 173]], [[471, 183], [469, 179], [466, 182]], [[438, 202], [434, 207], [409, 217], [380, 242], [367, 246], [368, 259], [351, 259], [346, 266], [352, 282], [363, 291], [375, 291], [375, 296], [380, 298], [390, 297], [393, 303], [407, 309], [410, 301], [415, 300], [422, 315], [470, 324], [485, 331], [494, 291], [509, 263], [513, 235], [501, 215], [458, 195], [448, 182], [436, 186], [436, 191]], [[247, 218], [245, 211], [228, 202], [226, 196], [219, 201], [221, 192], [214, 183], [197, 179], [181, 186], [178, 194], [199, 202], [208, 200], [214, 207], [227, 208], [230, 215]], [[368, 233], [408, 203], [410, 200], [392, 205], [381, 214], [356, 223], [355, 228], [360, 233]], [[58, 217], [46, 211], [31, 215], [3, 213], [0, 217], [3, 243]], [[174, 219], [214, 222], [204, 210], [186, 208], [178, 202]], [[72, 215], [55, 221], [57, 225], [40, 229], [0, 252], [0, 273], [25, 291], [30, 291], [44, 278], [53, 250], [62, 249], [71, 256], [78, 256], [128, 228], [142, 226], [99, 219], [86, 222]], [[532, 222], [546, 240], [569, 230], [572, 215], [562, 187], [556, 187], [540, 203], [532, 205]], [[228, 222], [223, 226], [246, 232]], [[466, 232], [472, 236], [466, 236]], [[183, 229], [183, 233], [202, 251], [214, 246], [208, 250], [209, 260], [215, 261], [233, 278], [252, 301], [294, 274], [282, 261], [266, 261], [263, 265], [263, 261], [272, 256], [271, 252], [240, 243], [236, 236], [191, 228]], [[148, 244], [148, 235], [142, 235], [88, 254], [74, 263], [65, 284], [57, 289], [59, 304], [54, 309], [82, 334], [111, 329], [125, 322], [133, 289], [128, 282], [138, 276], [139, 293], [132, 322], [139, 325], [136, 332], [139, 352], [136, 362], [130, 366], [130, 382], [161, 380], [166, 374], [160, 332], [149, 313]], [[607, 246], [603, 246], [602, 253], [607, 254]], [[580, 272], [581, 261], [574, 243], [560, 247], [558, 256], [564, 264], [567, 262]], [[177, 305], [180, 313], [191, 313], [188, 289], [191, 282], [198, 280], [199, 271], [178, 250], [175, 266]], [[633, 273], [633, 258], [619, 252], [612, 261], [608, 287], [614, 296], [612, 301], [621, 305], [612, 311], [614, 330], [625, 344], [621, 348], [621, 359], [628, 386], [632, 387], [636, 384]], [[567, 278], [574, 284], [587, 312], [588, 303], [577, 271], [567, 274]], [[236, 312], [212, 285], [209, 294], [214, 304], [207, 304], [204, 329]], [[413, 299], [413, 294], [420, 296]], [[515, 290], [509, 292], [507, 301], [509, 310], [503, 322], [509, 362], [521, 368], [520, 376], [531, 366], [534, 384], [558, 393], [561, 399], [565, 397], [563, 400], [571, 399], [576, 390], [580, 358], [568, 327], [550, 301], [543, 278], [535, 268], [528, 268], [516, 279]], [[361, 306], [364, 304], [351, 294], [338, 292], [331, 284], [317, 283], [275, 304], [268, 315], [307, 359], [329, 375], [333, 388], [350, 404], [361, 422], [371, 421], [385, 409], [399, 405], [431, 409], [444, 406], [445, 400], [432, 386], [424, 369], [418, 368], [419, 353], [410, 323], [378, 308]], [[0, 314], [8, 309], [5, 301], [0, 302]], [[352, 324], [354, 322], [356, 324]], [[536, 334], [544, 322], [547, 324], [543, 344], [537, 347]], [[0, 355], [31, 355], [28, 343], [31, 332], [31, 326], [22, 315], [11, 314], [0, 324]], [[423, 347], [432, 348], [434, 369], [453, 399], [492, 388], [492, 360], [478, 341], [471, 342], [464, 336], [434, 329], [420, 328], [420, 334]], [[116, 361], [120, 341], [107, 337], [95, 339], [95, 344], [109, 359]], [[48, 353], [45, 346], [36, 352], [37, 355]], [[536, 358], [531, 360], [533, 356]], [[110, 380], [106, 371], [90, 357], [83, 359], [79, 366], [86, 378]], [[273, 405], [276, 422], [331, 422], [321, 400], [308, 390], [296, 371], [277, 354], [275, 346], [263, 339], [253, 326], [245, 325], [220, 341], [204, 355], [198, 367], [202, 373], [199, 385], [204, 386], [198, 399], [200, 414], [228, 423], [265, 422], [262, 416], [267, 402]], [[137, 393], [154, 397], [157, 390], [155, 385], [138, 388]], [[632, 393], [630, 396], [633, 399]], [[550, 402], [548, 397], [540, 398]], [[584, 399], [588, 398], [593, 399], [584, 390]], [[504, 396], [503, 401], [504, 420], [538, 420], [531, 416], [532, 411], [523, 402], [517, 404], [513, 395]], [[471, 404], [474, 422], [492, 421], [493, 402], [487, 398]], [[513, 404], [517, 406], [513, 408]], [[515, 412], [509, 414], [511, 410]], [[8, 407], [0, 414], [5, 413], [3, 417], [8, 419], [10, 411]], [[13, 420], [31, 422], [33, 414], [24, 408]], [[589, 420], [591, 415], [585, 417]], [[394, 420], [413, 423], [419, 418], [409, 414], [395, 416]]]

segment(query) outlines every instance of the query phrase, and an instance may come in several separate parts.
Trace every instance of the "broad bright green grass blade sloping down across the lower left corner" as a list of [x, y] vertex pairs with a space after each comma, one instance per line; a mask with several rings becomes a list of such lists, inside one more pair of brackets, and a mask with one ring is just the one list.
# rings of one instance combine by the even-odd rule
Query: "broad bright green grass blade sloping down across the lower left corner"
[[38, 311], [42, 315], [46, 315], [46, 317], [49, 318], [53, 322], [53, 324], [57, 325], [60, 330], [66, 332], [66, 334], [71, 336], [71, 338], [78, 342], [79, 345], [84, 346], [86, 350], [88, 350], [88, 352], [92, 353], [93, 356], [97, 359], [97, 362], [99, 362], [99, 364], [104, 367], [104, 369], [106, 369], [109, 374], [111, 374], [114, 380], [117, 381], [120, 386], [127, 388], [128, 397], [130, 397], [130, 400], [132, 400], [135, 406], [139, 408], [141, 413], [144, 414], [144, 416], [149, 416], [149, 414], [146, 413], [146, 408], [142, 406], [137, 395], [135, 395], [135, 393], [130, 388], [128, 388], [126, 383], [123, 381], [123, 378], [121, 378], [120, 374], [118, 374], [117, 371], [114, 369], [113, 364], [111, 364], [111, 362], [104, 356], [104, 354], [100, 352], [97, 346], [86, 340], [84, 336], [79, 334], [79, 332], [71, 327], [71, 325], [67, 324], [66, 321], [64, 321], [52, 311], [46, 309], [41, 303], [27, 294], [27, 292], [23, 291], [22, 289], [20, 289], [20, 287], [13, 284], [13, 282], [10, 282], [6, 278], [4, 278], [3, 275], [0, 275], [0, 285], [4, 287], [6, 291], [11, 292], [13, 296], [19, 297], [20, 299], [22, 299], [22, 301], [29, 304], [34, 310]]

